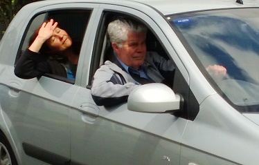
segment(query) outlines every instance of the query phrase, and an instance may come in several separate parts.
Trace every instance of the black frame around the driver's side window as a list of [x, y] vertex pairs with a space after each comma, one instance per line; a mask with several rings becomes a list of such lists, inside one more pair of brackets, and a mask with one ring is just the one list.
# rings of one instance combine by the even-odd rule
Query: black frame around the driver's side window
[[[102, 14], [101, 14], [97, 32], [96, 32], [97, 35], [96, 35], [96, 38], [94, 40], [94, 45], [93, 45], [93, 54], [92, 54], [92, 58], [91, 58], [91, 67], [90, 67], [90, 72], [89, 72], [89, 81], [87, 84], [87, 88], [91, 89], [91, 80], [93, 78], [94, 72], [99, 68], [99, 64], [101, 61], [100, 54], [103, 50], [103, 48], [102, 48], [102, 45], [104, 43], [103, 39], [105, 38], [104, 34], [106, 33], [106, 30], [107, 30], [107, 26], [103, 27], [103, 25], [107, 24], [105, 22], [105, 21], [107, 21], [107, 15], [109, 15], [107, 13], [114, 13], [114, 15], [121, 14], [123, 16], [132, 17], [133, 19], [136, 19], [137, 21], [140, 21], [141, 23], [145, 24], [145, 26], [148, 27], [148, 30], [150, 30], [150, 32], [152, 32], [154, 34], [154, 37], [157, 37], [157, 41], [159, 41], [159, 43], [163, 47], [163, 50], [166, 52], [166, 55], [168, 56], [168, 58], [170, 58], [172, 60], [173, 64], [175, 65], [175, 68], [176, 68], [175, 75], [177, 75], [177, 79], [179, 79], [179, 81], [177, 83], [175, 83], [175, 81], [174, 81], [172, 88], [174, 88], [174, 86], [179, 86], [179, 89], [174, 90], [174, 91], [175, 91], [175, 93], [180, 94], [184, 99], [183, 100], [184, 104], [181, 104], [181, 112], [175, 113], [174, 115], [176, 115], [178, 117], [183, 117], [185, 119], [194, 120], [195, 117], [197, 116], [197, 113], [199, 112], [198, 101], [195, 98], [193, 92], [190, 90], [190, 86], [188, 85], [188, 82], [186, 81], [184, 76], [181, 75], [181, 71], [179, 70], [179, 68], [177, 68], [177, 64], [175, 64], [175, 61], [172, 59], [172, 56], [168, 52], [168, 49], [166, 48], [166, 46], [164, 46], [164, 44], [161, 41], [161, 39], [159, 38], [159, 35], [157, 34], [156, 30], [154, 30], [147, 21], [142, 19], [139, 15], [136, 16], [127, 11], [122, 11], [122, 10], [118, 10], [118, 9], [110, 10], [108, 8], [105, 10], [102, 10]], [[103, 35], [103, 36], [100, 36], [100, 35]], [[99, 50], [98, 50], [98, 48], [99, 48]], [[191, 112], [190, 112], [190, 109], [192, 109]]]

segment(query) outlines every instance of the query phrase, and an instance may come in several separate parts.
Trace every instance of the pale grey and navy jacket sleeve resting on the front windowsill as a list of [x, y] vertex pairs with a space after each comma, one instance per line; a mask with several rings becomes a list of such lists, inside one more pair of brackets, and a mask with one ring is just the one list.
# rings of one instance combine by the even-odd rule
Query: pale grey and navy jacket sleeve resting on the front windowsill
[[114, 106], [127, 101], [132, 90], [138, 86], [103, 65], [93, 76], [91, 95], [98, 106]]

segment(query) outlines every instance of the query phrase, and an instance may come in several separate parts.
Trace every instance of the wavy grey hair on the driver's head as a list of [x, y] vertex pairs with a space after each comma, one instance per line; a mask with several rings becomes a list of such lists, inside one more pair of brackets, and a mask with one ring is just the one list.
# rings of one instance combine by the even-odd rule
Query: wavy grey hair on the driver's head
[[121, 46], [121, 43], [127, 40], [127, 32], [146, 34], [147, 28], [141, 23], [131, 21], [130, 19], [116, 19], [109, 23], [107, 32], [111, 43], [115, 42], [118, 46]]

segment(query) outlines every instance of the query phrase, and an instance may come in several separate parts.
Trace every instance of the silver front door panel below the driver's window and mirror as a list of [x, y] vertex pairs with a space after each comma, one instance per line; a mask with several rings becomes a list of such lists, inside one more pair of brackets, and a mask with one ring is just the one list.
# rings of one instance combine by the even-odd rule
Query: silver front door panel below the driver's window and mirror
[[71, 111], [72, 162], [179, 164], [179, 141], [186, 120], [132, 112], [127, 104], [99, 109], [87, 88], [80, 88], [73, 105], [80, 108]]

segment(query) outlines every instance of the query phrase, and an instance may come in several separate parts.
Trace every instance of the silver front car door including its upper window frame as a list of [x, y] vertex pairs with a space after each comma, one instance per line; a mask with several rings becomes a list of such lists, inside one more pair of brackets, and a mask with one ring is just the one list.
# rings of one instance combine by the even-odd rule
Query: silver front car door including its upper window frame
[[[89, 56], [84, 59], [82, 84], [72, 103], [73, 164], [179, 164], [181, 136], [188, 122], [187, 113], [180, 117], [169, 113], [138, 113], [128, 110], [127, 103], [107, 108], [96, 106], [91, 98], [91, 79], [94, 71], [102, 64], [101, 54], [105, 47], [107, 26], [105, 21], [112, 15], [123, 14], [145, 23], [157, 36], [166, 55], [174, 59], [177, 75], [174, 86], [181, 86], [182, 91], [178, 88], [177, 93], [187, 96], [188, 102], [188, 73], [157, 23], [161, 23], [167, 30], [171, 28], [160, 14], [148, 7], [144, 8], [150, 15], [123, 6], [101, 5], [94, 18], [95, 26], [91, 35], [86, 37], [95, 40], [89, 41], [85, 48]], [[156, 17], [160, 22], [153, 21], [152, 18]]]

